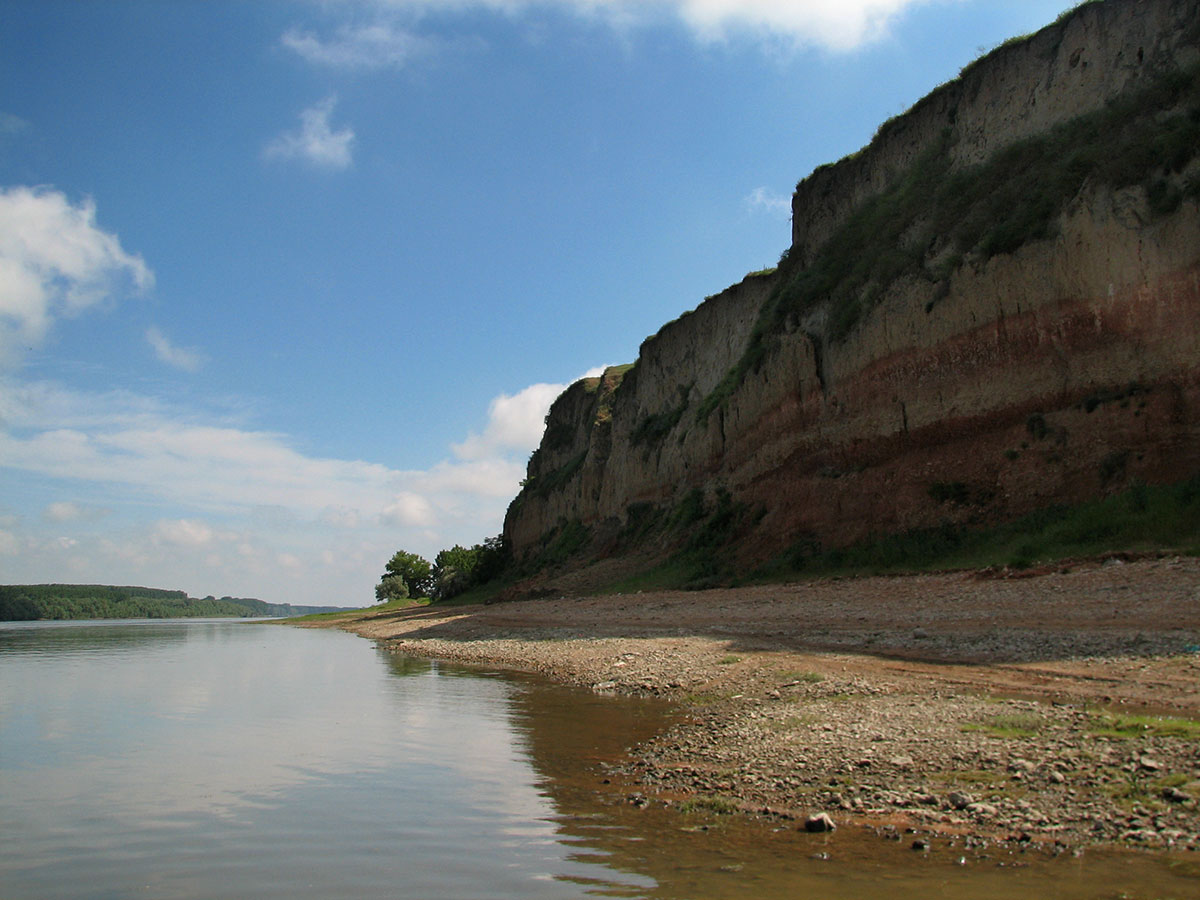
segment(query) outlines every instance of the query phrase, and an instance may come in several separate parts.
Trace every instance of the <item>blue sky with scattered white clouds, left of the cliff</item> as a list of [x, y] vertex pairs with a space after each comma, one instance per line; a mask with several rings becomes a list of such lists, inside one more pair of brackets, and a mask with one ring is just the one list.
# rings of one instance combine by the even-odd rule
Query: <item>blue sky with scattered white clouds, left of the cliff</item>
[[362, 606], [1064, 0], [2, 0], [0, 583]]

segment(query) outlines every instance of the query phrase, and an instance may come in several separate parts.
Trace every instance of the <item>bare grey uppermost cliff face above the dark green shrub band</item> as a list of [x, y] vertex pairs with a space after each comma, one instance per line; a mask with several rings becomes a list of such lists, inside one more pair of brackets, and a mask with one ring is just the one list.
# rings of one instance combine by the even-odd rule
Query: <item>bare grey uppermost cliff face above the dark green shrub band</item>
[[1200, 52], [1194, 35], [1186, 36], [1195, 20], [1192, 0], [1108, 0], [1003, 44], [880, 126], [863, 151], [802, 181], [792, 197], [793, 252], [811, 259], [851, 211], [947, 128], [955, 162], [979, 163], [1014, 140], [1100, 109], [1165, 70], [1194, 64]]

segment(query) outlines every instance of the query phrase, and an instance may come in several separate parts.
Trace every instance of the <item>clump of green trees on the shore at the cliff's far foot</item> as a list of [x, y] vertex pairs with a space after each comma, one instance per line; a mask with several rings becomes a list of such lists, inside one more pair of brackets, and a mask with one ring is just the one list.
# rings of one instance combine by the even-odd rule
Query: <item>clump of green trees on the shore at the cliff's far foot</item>
[[434, 601], [454, 596], [498, 578], [509, 564], [509, 544], [503, 535], [472, 547], [455, 545], [427, 559], [398, 550], [388, 560], [376, 584], [376, 600], [427, 596]]

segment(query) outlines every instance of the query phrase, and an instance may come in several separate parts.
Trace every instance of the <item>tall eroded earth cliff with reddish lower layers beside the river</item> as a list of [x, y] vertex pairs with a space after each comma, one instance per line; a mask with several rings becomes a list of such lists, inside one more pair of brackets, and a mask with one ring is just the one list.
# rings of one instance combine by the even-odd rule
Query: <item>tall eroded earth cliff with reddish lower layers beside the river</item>
[[797, 186], [776, 270], [558, 398], [516, 558], [692, 523], [754, 564], [1200, 473], [1198, 148], [1200, 0], [972, 64]]

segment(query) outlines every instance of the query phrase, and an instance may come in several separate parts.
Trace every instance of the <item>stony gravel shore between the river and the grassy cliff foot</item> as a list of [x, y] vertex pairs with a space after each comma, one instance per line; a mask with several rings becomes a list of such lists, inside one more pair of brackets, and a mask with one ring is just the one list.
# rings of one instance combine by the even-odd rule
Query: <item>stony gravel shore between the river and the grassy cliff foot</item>
[[638, 804], [827, 812], [967, 847], [1200, 850], [1198, 559], [562, 596], [335, 624], [396, 652], [677, 702], [680, 718], [608, 773]]

